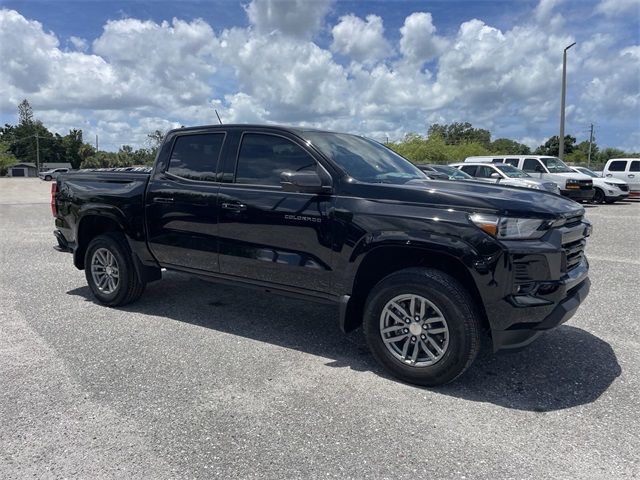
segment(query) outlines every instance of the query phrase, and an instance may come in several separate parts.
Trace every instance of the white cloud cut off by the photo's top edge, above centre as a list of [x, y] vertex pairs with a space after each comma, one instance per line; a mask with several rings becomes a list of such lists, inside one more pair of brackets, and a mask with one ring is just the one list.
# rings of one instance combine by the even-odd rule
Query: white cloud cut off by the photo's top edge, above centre
[[311, 38], [320, 30], [332, 3], [332, 0], [253, 0], [245, 10], [258, 33], [278, 31]]

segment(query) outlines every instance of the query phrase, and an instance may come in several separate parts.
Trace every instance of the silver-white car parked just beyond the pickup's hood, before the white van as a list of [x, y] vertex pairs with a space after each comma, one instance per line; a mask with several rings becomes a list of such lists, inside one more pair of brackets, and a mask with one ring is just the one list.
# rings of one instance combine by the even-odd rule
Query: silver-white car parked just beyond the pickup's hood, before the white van
[[554, 182], [538, 180], [528, 173], [507, 163], [453, 163], [452, 167], [472, 176], [477, 180], [499, 183], [507, 187], [526, 187], [560, 194], [558, 185]]

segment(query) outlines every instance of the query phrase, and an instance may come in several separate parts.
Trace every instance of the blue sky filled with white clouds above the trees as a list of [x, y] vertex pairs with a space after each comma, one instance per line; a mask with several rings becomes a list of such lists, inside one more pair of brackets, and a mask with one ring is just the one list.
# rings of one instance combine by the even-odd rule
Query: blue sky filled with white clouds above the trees
[[593, 122], [601, 146], [640, 151], [639, 5], [2, 1], [0, 120], [28, 98], [50, 128], [108, 149], [214, 108], [379, 139], [469, 121], [535, 146], [557, 134], [577, 41], [566, 131], [584, 140]]

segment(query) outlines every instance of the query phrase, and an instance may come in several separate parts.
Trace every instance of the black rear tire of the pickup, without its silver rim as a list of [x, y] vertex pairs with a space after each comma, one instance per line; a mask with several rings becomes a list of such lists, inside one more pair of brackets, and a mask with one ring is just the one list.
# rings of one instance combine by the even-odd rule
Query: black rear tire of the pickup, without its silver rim
[[[101, 291], [91, 271], [92, 260], [98, 249], [108, 250], [117, 262], [119, 270], [117, 286], [111, 293]], [[129, 245], [121, 233], [112, 232], [95, 237], [89, 246], [84, 257], [84, 272], [87, 278], [89, 288], [96, 299], [107, 306], [119, 307], [134, 302], [142, 292], [144, 292], [145, 284], [140, 280], [138, 273], [133, 264], [131, 250]]]

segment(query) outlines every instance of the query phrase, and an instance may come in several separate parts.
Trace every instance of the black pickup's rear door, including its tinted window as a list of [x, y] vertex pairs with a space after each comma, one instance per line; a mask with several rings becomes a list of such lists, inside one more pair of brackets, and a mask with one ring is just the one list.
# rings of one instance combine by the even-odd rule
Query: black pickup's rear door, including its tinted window
[[161, 265], [218, 272], [217, 165], [226, 132], [175, 136], [169, 161], [156, 166], [146, 196], [149, 249]]

